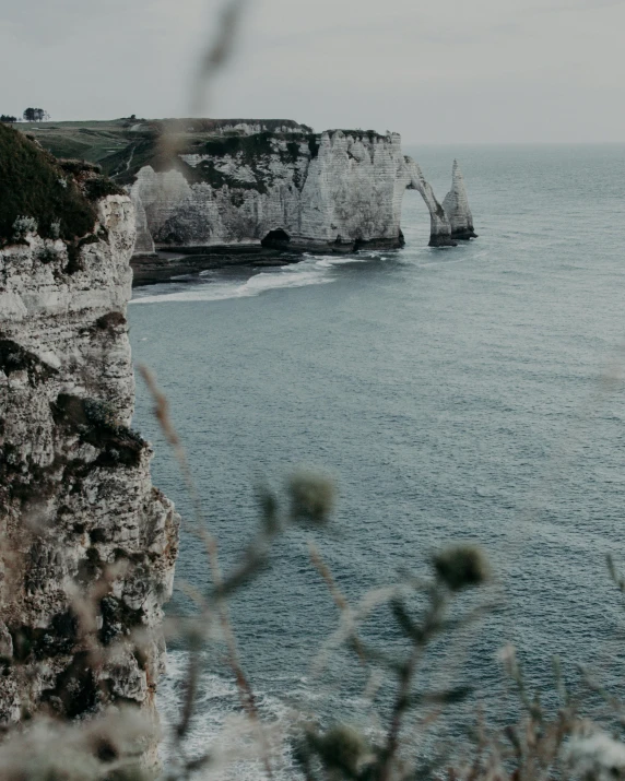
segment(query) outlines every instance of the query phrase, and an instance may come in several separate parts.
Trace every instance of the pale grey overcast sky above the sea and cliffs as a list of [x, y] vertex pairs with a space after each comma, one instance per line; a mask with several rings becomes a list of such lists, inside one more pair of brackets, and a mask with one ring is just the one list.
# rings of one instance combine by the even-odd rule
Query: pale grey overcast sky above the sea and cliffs
[[0, 113], [288, 118], [406, 143], [625, 141], [625, 0], [0, 0]]

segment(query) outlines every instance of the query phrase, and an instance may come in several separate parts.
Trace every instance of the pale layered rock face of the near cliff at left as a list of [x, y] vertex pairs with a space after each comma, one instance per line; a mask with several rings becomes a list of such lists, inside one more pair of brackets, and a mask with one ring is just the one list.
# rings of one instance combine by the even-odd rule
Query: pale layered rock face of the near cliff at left
[[71, 258], [33, 233], [0, 249], [3, 729], [115, 701], [152, 713], [164, 665], [179, 518], [129, 427], [134, 209], [96, 208]]

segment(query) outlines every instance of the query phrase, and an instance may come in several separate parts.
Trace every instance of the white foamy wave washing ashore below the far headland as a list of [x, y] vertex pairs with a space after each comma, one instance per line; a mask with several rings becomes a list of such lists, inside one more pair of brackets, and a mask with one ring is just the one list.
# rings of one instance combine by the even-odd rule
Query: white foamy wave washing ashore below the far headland
[[[150, 288], [139, 288], [134, 292], [131, 304], [162, 304], [167, 301], [220, 301], [228, 298], [249, 298], [261, 293], [281, 287], [306, 287], [308, 285], [325, 285], [337, 277], [332, 269], [347, 263], [362, 263], [368, 257], [353, 256], [304, 256], [304, 260], [293, 265], [283, 265], [271, 271], [262, 271], [250, 276], [245, 282], [223, 282], [215, 279], [219, 272], [200, 272], [192, 277], [191, 283], [176, 285], [164, 283]], [[156, 293], [154, 291], [156, 289]]]

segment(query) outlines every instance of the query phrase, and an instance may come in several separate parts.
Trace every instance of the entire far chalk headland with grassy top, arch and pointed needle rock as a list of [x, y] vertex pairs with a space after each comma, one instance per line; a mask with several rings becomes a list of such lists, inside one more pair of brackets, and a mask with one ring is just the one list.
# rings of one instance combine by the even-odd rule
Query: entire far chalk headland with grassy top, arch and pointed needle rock
[[[416, 163], [404, 158], [397, 133], [315, 133], [288, 119], [133, 117], [42, 126], [37, 140], [52, 154], [99, 161], [131, 192], [137, 256], [175, 249], [201, 265], [209, 255], [215, 263], [219, 257], [244, 262], [261, 241], [267, 251], [291, 248], [292, 260], [305, 250], [398, 247], [406, 188], [425, 200], [432, 246], [453, 246], [474, 233], [457, 166], [441, 205]], [[138, 279], [155, 263], [135, 262]]]

